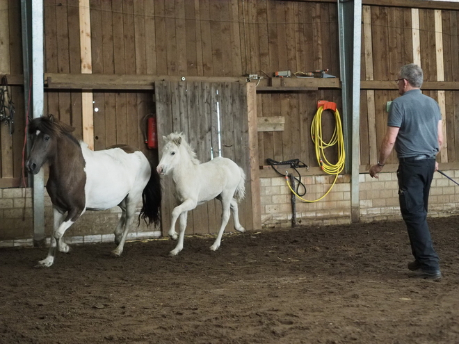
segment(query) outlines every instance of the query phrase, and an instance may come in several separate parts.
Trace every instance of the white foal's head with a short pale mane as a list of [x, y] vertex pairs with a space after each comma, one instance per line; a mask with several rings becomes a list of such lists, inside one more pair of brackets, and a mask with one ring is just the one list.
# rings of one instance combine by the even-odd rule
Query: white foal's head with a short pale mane
[[170, 133], [168, 136], [163, 136], [163, 140], [165, 144], [161, 161], [156, 167], [159, 174], [168, 174], [175, 168], [180, 168], [186, 161], [191, 161], [195, 165], [200, 164], [196, 153], [186, 142], [184, 133]]

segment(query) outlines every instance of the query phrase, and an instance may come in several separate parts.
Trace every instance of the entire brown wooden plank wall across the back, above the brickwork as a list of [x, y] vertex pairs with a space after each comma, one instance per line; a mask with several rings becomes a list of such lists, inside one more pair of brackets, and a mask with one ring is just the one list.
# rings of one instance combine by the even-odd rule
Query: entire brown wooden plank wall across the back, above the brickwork
[[[2, 42], [8, 42], [0, 44], [0, 73], [21, 74], [19, 3], [0, 0], [0, 6], [0, 35]], [[45, 0], [44, 6], [45, 72], [80, 74], [79, 1]], [[364, 13], [362, 79], [394, 80], [400, 65], [419, 59], [426, 80], [438, 80], [442, 73], [436, 48], [441, 37], [444, 80], [459, 80], [457, 10], [441, 10], [441, 26], [435, 10], [364, 6]], [[91, 0], [90, 22], [93, 74], [241, 77], [328, 68], [329, 74], [339, 76], [334, 2]], [[17, 92], [17, 128], [24, 127], [22, 93], [20, 88], [13, 92]], [[439, 99], [437, 91], [426, 94]], [[362, 165], [375, 161], [385, 132], [385, 103], [395, 97], [396, 90], [362, 90]], [[449, 90], [440, 95], [440, 102], [442, 97], [447, 138], [442, 159], [453, 162], [459, 158], [459, 95]], [[258, 133], [262, 165], [266, 158], [300, 158], [317, 166], [309, 129], [321, 99], [342, 108], [340, 90], [257, 92], [259, 117], [285, 118], [284, 131]], [[155, 108], [152, 91], [99, 90], [93, 92], [93, 101], [95, 149], [128, 142], [157, 159], [157, 151], [147, 151], [144, 143], [145, 116]], [[46, 92], [45, 113], [74, 126], [77, 138], [83, 133], [81, 107], [81, 92]], [[334, 127], [332, 114], [326, 114], [325, 136]], [[2, 182], [19, 178], [24, 139], [19, 133], [8, 138], [4, 130], [2, 125]], [[394, 156], [391, 159], [396, 162]]]

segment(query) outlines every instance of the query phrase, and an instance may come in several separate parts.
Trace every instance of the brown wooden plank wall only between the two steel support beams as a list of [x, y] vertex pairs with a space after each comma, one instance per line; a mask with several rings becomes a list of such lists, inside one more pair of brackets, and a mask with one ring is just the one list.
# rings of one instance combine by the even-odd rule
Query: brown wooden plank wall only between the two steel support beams
[[[77, 20], [77, 2], [45, 1], [47, 72], [79, 72], [73, 60], [79, 56], [78, 25], [62, 27]], [[271, 76], [283, 69], [328, 68], [339, 75], [333, 3], [92, 0], [90, 13], [93, 74]], [[72, 54], [61, 54], [69, 47]], [[81, 100], [72, 95], [47, 92], [47, 111], [70, 122], [81, 137]], [[340, 107], [340, 97], [339, 90], [257, 95], [259, 116], [287, 118], [284, 131], [259, 133], [259, 161], [300, 158], [314, 164], [309, 127], [316, 102], [337, 101]], [[95, 149], [126, 141], [144, 149], [151, 99], [148, 92], [95, 92]], [[325, 132], [334, 129], [332, 119], [324, 120]], [[150, 155], [156, 158], [156, 152]]]

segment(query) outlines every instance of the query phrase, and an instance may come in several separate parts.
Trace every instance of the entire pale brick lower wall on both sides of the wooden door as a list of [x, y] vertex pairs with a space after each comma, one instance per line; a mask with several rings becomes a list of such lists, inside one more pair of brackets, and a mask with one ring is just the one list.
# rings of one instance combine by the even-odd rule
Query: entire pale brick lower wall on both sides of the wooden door
[[[444, 171], [459, 181], [459, 170]], [[303, 199], [314, 201], [327, 193], [334, 176], [302, 177], [307, 193]], [[351, 223], [351, 177], [339, 176], [330, 193], [317, 202], [296, 198], [296, 218], [299, 225], [326, 226]], [[395, 172], [380, 173], [379, 179], [360, 174], [360, 220], [372, 222], [401, 219], [398, 206], [398, 184]], [[298, 190], [301, 191], [301, 190]], [[263, 227], [291, 226], [291, 192], [283, 177], [261, 178], [261, 223]], [[0, 247], [32, 245], [33, 217], [30, 188], [0, 189]], [[25, 208], [24, 208], [25, 205]], [[140, 211], [140, 204], [136, 215]], [[429, 216], [448, 216], [459, 212], [459, 186], [435, 173], [430, 188]], [[121, 211], [87, 211], [67, 230], [67, 243], [113, 241]], [[52, 232], [51, 201], [45, 192], [45, 229]], [[140, 222], [129, 234], [129, 240], [161, 236], [159, 228]]]

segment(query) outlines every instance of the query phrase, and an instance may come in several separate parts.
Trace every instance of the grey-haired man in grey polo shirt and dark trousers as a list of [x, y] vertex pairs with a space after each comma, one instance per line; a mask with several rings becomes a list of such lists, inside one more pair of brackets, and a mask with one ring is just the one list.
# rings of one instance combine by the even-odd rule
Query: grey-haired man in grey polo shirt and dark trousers
[[410, 277], [440, 279], [439, 258], [433, 248], [427, 224], [427, 205], [433, 173], [438, 170], [435, 156], [443, 144], [442, 115], [437, 102], [421, 93], [423, 72], [411, 63], [398, 74], [398, 97], [392, 101], [387, 132], [379, 161], [370, 176], [378, 178], [395, 147], [398, 157], [398, 200], [414, 261], [408, 264]]

